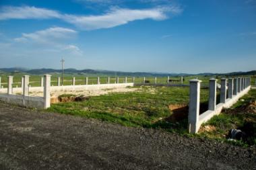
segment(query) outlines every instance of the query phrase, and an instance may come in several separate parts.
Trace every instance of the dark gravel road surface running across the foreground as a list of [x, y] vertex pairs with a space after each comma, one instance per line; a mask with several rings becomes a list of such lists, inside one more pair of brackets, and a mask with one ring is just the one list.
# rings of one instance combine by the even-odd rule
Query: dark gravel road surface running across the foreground
[[256, 148], [0, 103], [0, 169], [256, 169]]

